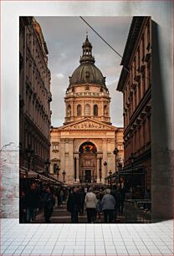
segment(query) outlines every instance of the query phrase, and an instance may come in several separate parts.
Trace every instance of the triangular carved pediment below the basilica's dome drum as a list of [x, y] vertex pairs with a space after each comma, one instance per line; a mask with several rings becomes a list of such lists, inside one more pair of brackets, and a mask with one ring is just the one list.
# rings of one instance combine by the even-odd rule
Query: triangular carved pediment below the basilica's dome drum
[[83, 120], [75, 121], [69, 125], [64, 125], [59, 127], [61, 131], [79, 131], [79, 130], [88, 130], [88, 131], [99, 131], [99, 130], [111, 130], [115, 131], [116, 127], [113, 125], [105, 124], [104, 122], [94, 120], [91, 118], [85, 118]]

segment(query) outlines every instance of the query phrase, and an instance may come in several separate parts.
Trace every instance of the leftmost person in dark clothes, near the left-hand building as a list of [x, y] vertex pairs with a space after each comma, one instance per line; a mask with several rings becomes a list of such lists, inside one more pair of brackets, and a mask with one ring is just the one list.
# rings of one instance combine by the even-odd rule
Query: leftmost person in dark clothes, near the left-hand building
[[30, 189], [26, 194], [27, 223], [35, 222], [39, 203], [40, 203], [40, 197], [37, 189], [37, 184], [33, 182], [31, 183]]

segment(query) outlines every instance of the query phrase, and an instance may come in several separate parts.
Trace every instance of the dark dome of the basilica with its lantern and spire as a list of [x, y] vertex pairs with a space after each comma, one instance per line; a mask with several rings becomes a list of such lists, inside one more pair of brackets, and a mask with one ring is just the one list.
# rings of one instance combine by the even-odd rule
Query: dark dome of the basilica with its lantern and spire
[[92, 56], [92, 44], [86, 36], [86, 40], [82, 45], [83, 55], [79, 60], [79, 67], [69, 77], [71, 84], [103, 84], [105, 85], [105, 77], [95, 66], [95, 58]]

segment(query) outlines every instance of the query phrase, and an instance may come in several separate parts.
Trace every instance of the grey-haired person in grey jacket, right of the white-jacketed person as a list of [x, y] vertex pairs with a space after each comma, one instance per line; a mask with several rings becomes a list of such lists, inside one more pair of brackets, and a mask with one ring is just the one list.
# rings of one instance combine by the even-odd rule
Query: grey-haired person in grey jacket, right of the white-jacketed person
[[110, 195], [111, 190], [109, 188], [106, 189], [105, 192], [106, 194], [101, 200], [102, 211], [104, 212], [104, 221], [105, 223], [113, 223], [115, 212], [115, 198]]

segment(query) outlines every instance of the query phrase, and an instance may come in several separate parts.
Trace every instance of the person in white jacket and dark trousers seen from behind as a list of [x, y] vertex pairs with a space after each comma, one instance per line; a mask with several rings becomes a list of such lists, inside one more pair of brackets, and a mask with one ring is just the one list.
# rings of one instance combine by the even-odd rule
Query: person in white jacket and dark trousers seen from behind
[[89, 192], [86, 193], [84, 203], [86, 206], [88, 223], [94, 223], [97, 198], [95, 196], [95, 193], [93, 192], [93, 187], [90, 187]]

